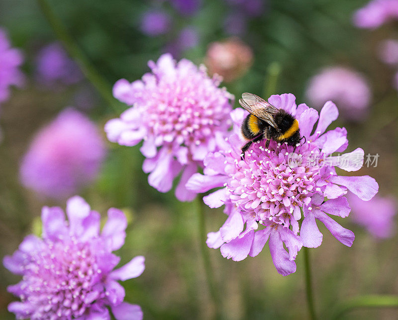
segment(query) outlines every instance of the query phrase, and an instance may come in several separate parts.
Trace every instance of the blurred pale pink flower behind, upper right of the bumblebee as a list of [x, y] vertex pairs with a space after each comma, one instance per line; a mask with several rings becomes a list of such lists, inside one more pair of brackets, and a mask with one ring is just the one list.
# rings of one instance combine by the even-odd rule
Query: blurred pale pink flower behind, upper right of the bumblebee
[[368, 113], [371, 91], [361, 74], [343, 67], [331, 67], [309, 80], [306, 96], [316, 109], [333, 100], [345, 118], [359, 121]]

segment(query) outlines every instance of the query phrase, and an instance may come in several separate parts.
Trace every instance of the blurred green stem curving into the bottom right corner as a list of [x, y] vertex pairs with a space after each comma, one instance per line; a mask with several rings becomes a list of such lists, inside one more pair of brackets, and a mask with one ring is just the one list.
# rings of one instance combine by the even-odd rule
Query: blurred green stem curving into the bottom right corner
[[339, 319], [346, 312], [358, 308], [398, 308], [398, 296], [367, 295], [351, 298], [336, 308], [332, 319]]

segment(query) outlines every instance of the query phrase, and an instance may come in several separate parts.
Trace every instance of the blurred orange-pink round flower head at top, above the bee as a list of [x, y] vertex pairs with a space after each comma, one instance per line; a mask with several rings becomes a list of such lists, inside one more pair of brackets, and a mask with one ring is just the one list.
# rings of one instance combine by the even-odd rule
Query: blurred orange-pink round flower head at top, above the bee
[[210, 74], [220, 75], [225, 82], [241, 77], [253, 62], [253, 52], [237, 38], [209, 45], [205, 65]]

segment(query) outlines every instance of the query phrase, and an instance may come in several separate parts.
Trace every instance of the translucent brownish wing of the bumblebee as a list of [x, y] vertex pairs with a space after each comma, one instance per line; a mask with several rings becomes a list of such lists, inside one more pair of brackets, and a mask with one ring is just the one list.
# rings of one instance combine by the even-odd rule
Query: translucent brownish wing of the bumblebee
[[239, 103], [252, 115], [266, 121], [268, 124], [279, 130], [278, 125], [275, 123], [274, 114], [277, 114], [279, 110], [272, 104], [265, 101], [263, 98], [253, 93], [242, 93], [242, 99], [239, 99]]

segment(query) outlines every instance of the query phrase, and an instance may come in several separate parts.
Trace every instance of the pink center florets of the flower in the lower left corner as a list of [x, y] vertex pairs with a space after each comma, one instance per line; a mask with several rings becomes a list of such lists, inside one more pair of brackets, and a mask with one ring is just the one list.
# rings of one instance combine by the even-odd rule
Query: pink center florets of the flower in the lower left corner
[[20, 298], [34, 306], [31, 319], [51, 319], [54, 315], [77, 318], [103, 297], [103, 293], [92, 291], [100, 281], [101, 270], [89, 243], [47, 240], [46, 247], [31, 256], [24, 270], [24, 295]]

